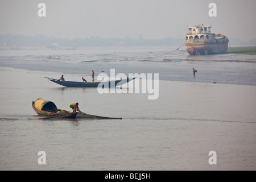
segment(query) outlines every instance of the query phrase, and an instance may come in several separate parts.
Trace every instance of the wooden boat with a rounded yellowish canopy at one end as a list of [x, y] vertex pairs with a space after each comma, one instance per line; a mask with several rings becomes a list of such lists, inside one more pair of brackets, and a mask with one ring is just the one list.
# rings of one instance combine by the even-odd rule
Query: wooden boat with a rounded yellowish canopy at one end
[[42, 98], [32, 101], [32, 107], [38, 115], [47, 117], [76, 118], [77, 114], [76, 112], [57, 109], [57, 106], [52, 101], [46, 101]]

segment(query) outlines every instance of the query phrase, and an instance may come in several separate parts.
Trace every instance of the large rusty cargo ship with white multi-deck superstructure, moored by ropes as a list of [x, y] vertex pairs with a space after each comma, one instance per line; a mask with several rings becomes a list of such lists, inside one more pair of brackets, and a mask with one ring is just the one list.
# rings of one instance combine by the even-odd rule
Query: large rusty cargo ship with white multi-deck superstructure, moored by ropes
[[188, 27], [185, 46], [189, 55], [210, 55], [228, 50], [228, 37], [224, 34], [212, 34], [211, 27], [204, 24]]

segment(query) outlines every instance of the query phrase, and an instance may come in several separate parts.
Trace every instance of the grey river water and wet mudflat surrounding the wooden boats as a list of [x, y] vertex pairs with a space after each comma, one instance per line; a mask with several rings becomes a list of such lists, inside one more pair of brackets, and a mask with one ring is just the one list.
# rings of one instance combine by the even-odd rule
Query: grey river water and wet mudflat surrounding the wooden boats
[[[174, 49], [0, 51], [0, 170], [255, 170], [256, 56]], [[44, 78], [92, 81], [92, 69], [96, 78], [110, 69], [158, 73], [158, 97], [130, 85], [100, 94]], [[40, 119], [31, 106], [37, 98], [122, 119]], [[217, 164], [209, 164], [210, 151]]]

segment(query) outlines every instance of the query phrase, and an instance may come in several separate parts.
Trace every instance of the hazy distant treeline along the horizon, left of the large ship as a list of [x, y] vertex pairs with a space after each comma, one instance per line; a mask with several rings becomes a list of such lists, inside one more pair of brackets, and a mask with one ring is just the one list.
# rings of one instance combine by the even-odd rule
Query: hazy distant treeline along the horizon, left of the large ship
[[86, 39], [57, 39], [46, 35], [24, 36], [24, 35], [1, 35], [0, 46], [176, 46], [184, 43], [184, 38], [165, 38], [165, 39], [138, 39], [126, 38], [100, 38], [99, 36]]

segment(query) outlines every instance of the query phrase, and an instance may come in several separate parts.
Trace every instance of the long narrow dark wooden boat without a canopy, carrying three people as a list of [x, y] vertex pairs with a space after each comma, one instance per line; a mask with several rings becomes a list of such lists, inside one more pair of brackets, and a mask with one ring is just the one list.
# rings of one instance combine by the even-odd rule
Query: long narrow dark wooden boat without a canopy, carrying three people
[[127, 82], [135, 79], [135, 78], [127, 77], [126, 79], [115, 80], [115, 81], [79, 82], [79, 81], [60, 81], [60, 80], [49, 78], [49, 77], [44, 77], [44, 78], [48, 78], [48, 80], [62, 86], [77, 87], [77, 88], [97, 88], [98, 86], [100, 86], [101, 88], [104, 88], [105, 86], [108, 88], [113, 88], [115, 86], [126, 84]]

